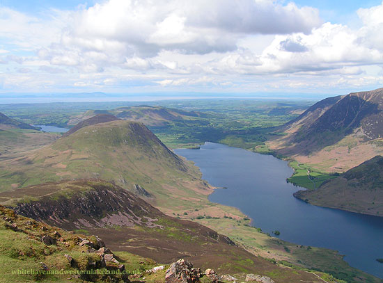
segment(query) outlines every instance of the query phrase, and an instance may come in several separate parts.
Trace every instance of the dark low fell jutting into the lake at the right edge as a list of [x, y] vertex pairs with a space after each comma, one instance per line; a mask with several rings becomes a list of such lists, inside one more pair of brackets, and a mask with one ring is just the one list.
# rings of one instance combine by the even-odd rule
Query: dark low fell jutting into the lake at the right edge
[[383, 157], [375, 156], [316, 190], [294, 195], [321, 207], [383, 216]]

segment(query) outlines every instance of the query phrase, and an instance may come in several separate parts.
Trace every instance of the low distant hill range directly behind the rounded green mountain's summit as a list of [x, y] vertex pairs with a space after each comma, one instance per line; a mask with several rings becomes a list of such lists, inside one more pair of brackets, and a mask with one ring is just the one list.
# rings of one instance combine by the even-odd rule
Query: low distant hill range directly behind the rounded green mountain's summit
[[114, 115], [122, 120], [142, 122], [146, 126], [163, 126], [176, 120], [191, 120], [197, 117], [206, 117], [208, 114], [195, 111], [182, 111], [180, 109], [166, 108], [162, 106], [127, 106], [114, 110], [89, 110], [84, 114], [72, 117], [68, 124], [77, 124], [82, 120], [99, 114]]

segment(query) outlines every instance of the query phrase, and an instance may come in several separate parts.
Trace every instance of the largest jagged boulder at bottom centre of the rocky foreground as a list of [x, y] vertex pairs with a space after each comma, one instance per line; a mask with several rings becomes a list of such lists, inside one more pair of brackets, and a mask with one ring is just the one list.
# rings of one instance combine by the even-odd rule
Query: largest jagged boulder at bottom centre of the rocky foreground
[[165, 274], [166, 283], [196, 283], [199, 282], [199, 277], [196, 275], [196, 270], [193, 269], [193, 264], [185, 259], [178, 259], [173, 262]]

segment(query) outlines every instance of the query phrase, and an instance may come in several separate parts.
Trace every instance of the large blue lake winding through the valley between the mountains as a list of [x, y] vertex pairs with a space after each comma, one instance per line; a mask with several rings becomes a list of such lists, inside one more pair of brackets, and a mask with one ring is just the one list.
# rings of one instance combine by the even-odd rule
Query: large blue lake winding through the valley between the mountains
[[383, 218], [315, 207], [297, 200], [286, 182], [293, 170], [286, 161], [217, 143], [201, 149], [175, 149], [194, 161], [203, 179], [217, 189], [212, 202], [237, 207], [252, 225], [292, 243], [338, 250], [351, 266], [383, 277]]

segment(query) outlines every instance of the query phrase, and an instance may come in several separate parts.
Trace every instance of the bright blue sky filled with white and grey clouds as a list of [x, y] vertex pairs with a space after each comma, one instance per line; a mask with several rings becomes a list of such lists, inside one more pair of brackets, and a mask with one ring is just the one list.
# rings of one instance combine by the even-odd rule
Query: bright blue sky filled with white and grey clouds
[[0, 102], [373, 90], [382, 31], [382, 0], [0, 0]]

